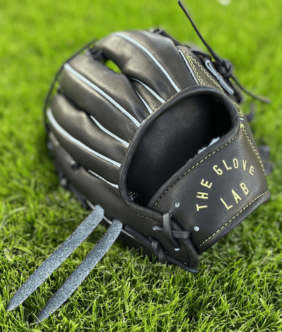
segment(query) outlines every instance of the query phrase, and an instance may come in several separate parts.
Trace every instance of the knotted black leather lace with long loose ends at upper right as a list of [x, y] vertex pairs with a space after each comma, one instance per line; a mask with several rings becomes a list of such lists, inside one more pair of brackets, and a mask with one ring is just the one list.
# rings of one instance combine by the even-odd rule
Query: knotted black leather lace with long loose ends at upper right
[[[189, 19], [190, 23], [192, 24], [194, 30], [196, 31], [197, 35], [199, 36], [199, 38], [201, 39], [201, 41], [203, 42], [203, 44], [207, 47], [207, 49], [209, 50], [209, 52], [211, 53], [211, 55], [213, 56], [214, 60], [212, 61], [212, 58], [210, 55], [205, 54], [203, 52], [199, 52], [196, 50], [193, 50], [193, 53], [201, 55], [205, 58], [208, 58], [209, 60], [212, 61], [213, 66], [215, 67], [215, 69], [218, 71], [219, 74], [221, 74], [221, 76], [226, 80], [226, 82], [232, 86], [232, 83], [230, 82], [230, 79], [233, 79], [234, 82], [237, 84], [237, 86], [244, 91], [247, 95], [251, 96], [254, 99], [257, 99], [263, 103], [270, 103], [270, 99], [265, 98], [265, 97], [260, 97], [260, 96], [255, 96], [254, 94], [252, 94], [250, 91], [246, 90], [239, 82], [238, 80], [234, 77], [233, 74], [233, 66], [232, 63], [228, 60], [224, 60], [222, 59], [209, 45], [208, 43], [204, 40], [203, 36], [200, 34], [199, 30], [196, 28], [194, 22], [192, 21], [191, 17], [189, 16], [188, 12], [186, 11], [186, 9], [184, 8], [183, 4], [181, 3], [181, 1], [178, 1], [179, 6], [181, 7], [181, 9], [183, 10], [183, 12], [185, 13], [185, 15], [187, 16], [187, 18]], [[240, 95], [237, 93], [236, 94], [236, 98], [238, 100], [238, 102], [241, 101], [241, 97]]]

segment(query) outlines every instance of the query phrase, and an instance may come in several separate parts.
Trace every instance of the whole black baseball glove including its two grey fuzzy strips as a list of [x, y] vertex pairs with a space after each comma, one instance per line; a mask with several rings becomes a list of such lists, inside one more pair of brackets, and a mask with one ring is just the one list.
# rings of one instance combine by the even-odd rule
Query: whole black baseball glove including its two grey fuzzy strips
[[[47, 103], [48, 147], [61, 184], [93, 212], [17, 291], [8, 310], [103, 216], [108, 231], [39, 320], [68, 298], [119, 234], [160, 262], [196, 273], [198, 255], [269, 199], [263, 162], [239, 107], [242, 87], [231, 63], [191, 23], [212, 57], [157, 29], [113, 33], [64, 63]], [[113, 63], [118, 69], [109, 68]]]

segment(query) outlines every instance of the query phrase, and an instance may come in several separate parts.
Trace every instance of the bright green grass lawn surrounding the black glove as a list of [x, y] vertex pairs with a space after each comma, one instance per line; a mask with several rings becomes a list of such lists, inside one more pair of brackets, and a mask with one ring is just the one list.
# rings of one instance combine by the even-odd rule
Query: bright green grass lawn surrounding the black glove
[[[87, 216], [60, 187], [42, 108], [61, 63], [92, 39], [164, 28], [203, 47], [176, 0], [0, 0], [0, 331], [282, 331], [282, 15], [279, 0], [186, 0], [210, 45], [256, 102], [271, 147], [271, 199], [200, 256], [199, 273], [150, 262], [117, 242], [59, 310], [36, 314], [103, 235], [98, 226], [17, 309], [18, 287]], [[248, 112], [251, 98], [242, 109]]]

